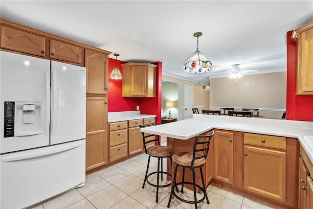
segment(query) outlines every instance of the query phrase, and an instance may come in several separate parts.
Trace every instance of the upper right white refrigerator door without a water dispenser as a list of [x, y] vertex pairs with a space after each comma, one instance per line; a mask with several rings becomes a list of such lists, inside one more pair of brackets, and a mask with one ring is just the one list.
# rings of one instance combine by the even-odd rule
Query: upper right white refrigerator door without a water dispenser
[[50, 144], [86, 138], [86, 68], [51, 61], [50, 129]]

